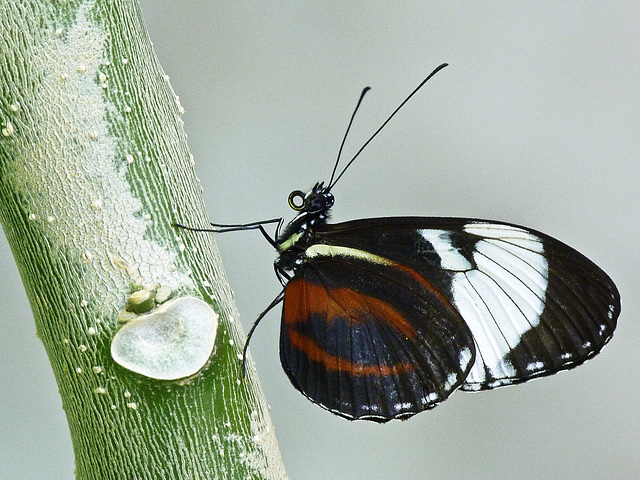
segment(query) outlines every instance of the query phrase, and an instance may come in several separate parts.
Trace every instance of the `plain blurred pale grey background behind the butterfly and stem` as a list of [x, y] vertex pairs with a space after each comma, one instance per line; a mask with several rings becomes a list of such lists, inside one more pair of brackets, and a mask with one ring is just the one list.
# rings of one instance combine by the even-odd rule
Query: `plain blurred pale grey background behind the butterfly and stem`
[[[584, 366], [518, 387], [457, 393], [384, 426], [350, 423], [295, 391], [279, 314], [252, 342], [294, 479], [636, 477], [640, 465], [637, 2], [143, 2], [186, 108], [212, 220], [285, 215], [327, 180], [432, 68], [439, 73], [334, 189], [336, 221], [383, 215], [505, 220], [598, 263], [623, 298], [618, 330]], [[258, 233], [218, 237], [245, 329], [279, 290]], [[67, 479], [57, 388], [0, 242], [0, 477]]]

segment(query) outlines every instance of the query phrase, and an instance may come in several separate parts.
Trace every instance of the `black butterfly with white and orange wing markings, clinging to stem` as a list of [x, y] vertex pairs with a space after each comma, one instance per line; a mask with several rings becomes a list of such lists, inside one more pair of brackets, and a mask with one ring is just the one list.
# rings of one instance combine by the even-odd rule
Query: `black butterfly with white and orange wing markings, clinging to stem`
[[[609, 341], [620, 313], [613, 281], [539, 231], [466, 218], [328, 223], [336, 176], [289, 205], [297, 216], [196, 231], [258, 229], [277, 250], [280, 360], [293, 386], [350, 420], [386, 422], [431, 409], [457, 389], [488, 390], [570, 369]], [[275, 237], [264, 228], [277, 224]], [[178, 225], [181, 226], [181, 225]], [[244, 365], [244, 364], [243, 364]]]

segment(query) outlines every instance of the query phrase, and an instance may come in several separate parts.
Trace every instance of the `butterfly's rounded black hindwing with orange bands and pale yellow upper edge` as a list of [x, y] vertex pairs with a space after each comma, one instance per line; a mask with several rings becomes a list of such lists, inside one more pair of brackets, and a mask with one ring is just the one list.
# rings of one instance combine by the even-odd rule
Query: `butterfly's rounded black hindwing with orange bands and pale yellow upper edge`
[[314, 402], [387, 421], [445, 400], [467, 377], [474, 342], [451, 302], [415, 270], [321, 245], [287, 284], [280, 356]]

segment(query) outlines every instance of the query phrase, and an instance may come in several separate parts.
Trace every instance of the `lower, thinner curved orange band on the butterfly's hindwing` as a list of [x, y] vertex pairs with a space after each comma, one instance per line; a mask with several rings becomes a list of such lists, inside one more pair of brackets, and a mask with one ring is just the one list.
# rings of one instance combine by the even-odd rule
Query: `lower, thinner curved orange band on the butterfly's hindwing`
[[389, 375], [401, 375], [415, 369], [410, 363], [398, 363], [395, 365], [363, 365], [351, 360], [331, 355], [320, 348], [313, 340], [300, 335], [291, 329], [287, 332], [287, 338], [295, 348], [303, 352], [310, 360], [321, 363], [327, 370], [346, 372], [353, 376], [376, 375], [387, 377]]

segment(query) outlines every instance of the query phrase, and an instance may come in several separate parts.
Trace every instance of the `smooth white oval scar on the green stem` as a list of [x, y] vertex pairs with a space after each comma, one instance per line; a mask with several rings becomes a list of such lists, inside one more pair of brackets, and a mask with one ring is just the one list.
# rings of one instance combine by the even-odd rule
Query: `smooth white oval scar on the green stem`
[[195, 297], [170, 300], [118, 330], [113, 359], [132, 372], [159, 380], [197, 373], [213, 353], [218, 314]]

